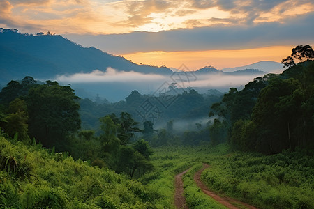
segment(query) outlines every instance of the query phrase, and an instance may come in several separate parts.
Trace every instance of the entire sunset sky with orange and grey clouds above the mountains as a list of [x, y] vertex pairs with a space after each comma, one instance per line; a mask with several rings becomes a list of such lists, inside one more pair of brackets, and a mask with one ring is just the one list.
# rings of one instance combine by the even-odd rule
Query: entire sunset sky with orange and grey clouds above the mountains
[[313, 46], [313, 20], [313, 0], [0, 0], [0, 27], [190, 70], [280, 62]]

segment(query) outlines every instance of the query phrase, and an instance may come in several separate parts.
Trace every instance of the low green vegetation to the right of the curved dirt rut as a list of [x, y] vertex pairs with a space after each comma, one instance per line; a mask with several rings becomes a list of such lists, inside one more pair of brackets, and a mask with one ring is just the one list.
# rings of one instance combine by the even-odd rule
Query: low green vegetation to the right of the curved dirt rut
[[271, 156], [209, 153], [207, 159], [211, 167], [202, 173], [202, 180], [220, 194], [257, 208], [314, 207], [313, 150]]

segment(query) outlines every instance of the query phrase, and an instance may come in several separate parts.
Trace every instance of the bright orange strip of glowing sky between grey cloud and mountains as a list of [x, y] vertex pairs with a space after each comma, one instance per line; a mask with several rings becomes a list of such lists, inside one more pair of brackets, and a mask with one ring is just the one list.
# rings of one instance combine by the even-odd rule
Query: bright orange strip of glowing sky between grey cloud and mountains
[[197, 70], [208, 65], [223, 69], [249, 65], [258, 61], [280, 62], [283, 58], [291, 54], [293, 47], [274, 46], [255, 49], [192, 52], [137, 52], [121, 56], [134, 63], [156, 66], [165, 65], [168, 68], [179, 68], [181, 64], [185, 64], [190, 70]]

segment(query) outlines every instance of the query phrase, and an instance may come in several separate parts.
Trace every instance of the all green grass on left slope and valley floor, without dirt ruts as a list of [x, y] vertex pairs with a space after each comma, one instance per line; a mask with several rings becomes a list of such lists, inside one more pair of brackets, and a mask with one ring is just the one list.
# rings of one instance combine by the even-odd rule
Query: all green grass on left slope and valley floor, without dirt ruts
[[174, 208], [174, 176], [188, 168], [188, 206], [224, 208], [193, 180], [202, 162], [211, 165], [203, 182], [221, 196], [257, 208], [314, 208], [313, 152], [304, 150], [265, 156], [232, 152], [226, 144], [156, 148], [154, 171], [138, 179], [3, 136], [0, 155], [1, 162], [15, 160], [12, 167], [1, 164], [0, 208]]

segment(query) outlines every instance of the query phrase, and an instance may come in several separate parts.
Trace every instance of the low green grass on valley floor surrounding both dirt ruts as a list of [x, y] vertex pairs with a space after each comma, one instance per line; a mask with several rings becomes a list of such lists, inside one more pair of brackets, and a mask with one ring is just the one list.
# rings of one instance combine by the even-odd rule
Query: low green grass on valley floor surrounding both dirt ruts
[[151, 160], [156, 170], [139, 180], [167, 194], [168, 199], [173, 198], [175, 174], [191, 168], [184, 175], [184, 195], [190, 208], [223, 208], [195, 185], [193, 178], [202, 168], [200, 162], [211, 166], [202, 173], [202, 181], [221, 196], [230, 196], [257, 208], [314, 207], [313, 150], [265, 156], [232, 151], [227, 144], [163, 147], [154, 149]]

